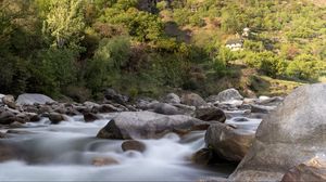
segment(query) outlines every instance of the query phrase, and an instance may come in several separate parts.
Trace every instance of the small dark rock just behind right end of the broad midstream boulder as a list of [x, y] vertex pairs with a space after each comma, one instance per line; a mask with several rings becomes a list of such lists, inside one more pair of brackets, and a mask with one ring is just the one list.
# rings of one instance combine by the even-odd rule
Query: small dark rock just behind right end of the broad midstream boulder
[[215, 120], [218, 122], [225, 122], [226, 116], [223, 110], [216, 107], [202, 107], [196, 110], [196, 118], [210, 121]]

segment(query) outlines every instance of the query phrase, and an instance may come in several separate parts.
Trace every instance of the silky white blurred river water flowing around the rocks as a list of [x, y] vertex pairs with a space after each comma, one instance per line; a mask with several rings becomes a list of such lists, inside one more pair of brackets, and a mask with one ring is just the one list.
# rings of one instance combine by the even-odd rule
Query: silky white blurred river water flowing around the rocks
[[[170, 133], [160, 140], [141, 140], [143, 153], [123, 152], [123, 141], [96, 138], [113, 116], [88, 123], [82, 116], [60, 125], [42, 119], [16, 129], [30, 133], [0, 140], [20, 148], [23, 156], [0, 164], [0, 181], [198, 181], [208, 176], [227, 177], [234, 170], [229, 165], [212, 170], [191, 162], [191, 155], [204, 146], [203, 131], [183, 138]], [[250, 121], [256, 125], [256, 120]], [[118, 164], [93, 166], [99, 157], [114, 158]]]

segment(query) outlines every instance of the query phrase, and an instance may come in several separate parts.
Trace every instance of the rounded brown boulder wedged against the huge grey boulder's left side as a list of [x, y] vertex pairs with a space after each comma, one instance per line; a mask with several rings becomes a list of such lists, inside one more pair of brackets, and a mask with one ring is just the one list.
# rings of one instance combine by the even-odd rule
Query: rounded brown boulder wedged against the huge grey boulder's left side
[[210, 126], [205, 133], [205, 143], [215, 154], [229, 161], [240, 161], [248, 153], [254, 139], [254, 132], [235, 129], [225, 123]]

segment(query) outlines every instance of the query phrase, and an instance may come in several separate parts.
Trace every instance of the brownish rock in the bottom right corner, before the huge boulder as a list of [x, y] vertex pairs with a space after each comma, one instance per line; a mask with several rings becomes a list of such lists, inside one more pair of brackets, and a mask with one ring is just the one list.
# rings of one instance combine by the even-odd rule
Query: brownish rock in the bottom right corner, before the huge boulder
[[281, 182], [300, 181], [326, 181], [326, 160], [314, 157], [308, 162], [300, 164], [290, 169], [281, 179]]

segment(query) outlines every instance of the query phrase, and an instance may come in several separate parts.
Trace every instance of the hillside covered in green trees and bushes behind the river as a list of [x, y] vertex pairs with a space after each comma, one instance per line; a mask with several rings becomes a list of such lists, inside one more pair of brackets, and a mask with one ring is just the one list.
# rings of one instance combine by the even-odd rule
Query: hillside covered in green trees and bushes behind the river
[[[2, 0], [0, 93], [83, 101], [235, 87], [278, 95], [323, 80], [324, 1]], [[229, 42], [239, 42], [235, 51]], [[229, 46], [230, 48], [227, 48]]]

